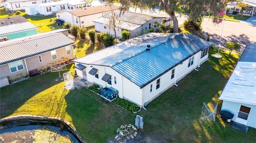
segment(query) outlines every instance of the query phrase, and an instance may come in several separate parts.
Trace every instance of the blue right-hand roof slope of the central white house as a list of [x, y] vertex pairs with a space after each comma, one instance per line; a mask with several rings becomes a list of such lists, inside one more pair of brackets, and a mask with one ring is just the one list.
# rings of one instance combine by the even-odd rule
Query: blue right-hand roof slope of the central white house
[[188, 34], [178, 35], [166, 43], [150, 48], [111, 66], [124, 77], [143, 88], [175, 65], [212, 44]]

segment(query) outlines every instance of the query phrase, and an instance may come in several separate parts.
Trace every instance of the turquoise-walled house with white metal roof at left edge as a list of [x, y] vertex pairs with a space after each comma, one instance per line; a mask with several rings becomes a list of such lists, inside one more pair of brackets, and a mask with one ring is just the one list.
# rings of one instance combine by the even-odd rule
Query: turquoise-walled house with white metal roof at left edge
[[0, 19], [0, 42], [37, 34], [37, 27], [23, 16]]

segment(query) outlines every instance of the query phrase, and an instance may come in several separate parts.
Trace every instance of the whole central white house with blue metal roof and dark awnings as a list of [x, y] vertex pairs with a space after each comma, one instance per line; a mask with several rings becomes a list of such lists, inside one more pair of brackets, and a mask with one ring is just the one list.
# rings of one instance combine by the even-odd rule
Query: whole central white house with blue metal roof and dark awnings
[[147, 33], [74, 62], [79, 77], [102, 87], [102, 97], [111, 101], [117, 94], [146, 106], [197, 70], [208, 59], [211, 45], [185, 33]]

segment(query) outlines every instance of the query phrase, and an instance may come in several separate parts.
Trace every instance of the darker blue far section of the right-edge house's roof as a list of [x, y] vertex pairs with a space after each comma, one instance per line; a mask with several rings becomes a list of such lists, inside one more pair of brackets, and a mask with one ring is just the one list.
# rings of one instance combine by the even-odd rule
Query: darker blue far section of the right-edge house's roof
[[239, 61], [256, 62], [256, 43], [246, 45]]

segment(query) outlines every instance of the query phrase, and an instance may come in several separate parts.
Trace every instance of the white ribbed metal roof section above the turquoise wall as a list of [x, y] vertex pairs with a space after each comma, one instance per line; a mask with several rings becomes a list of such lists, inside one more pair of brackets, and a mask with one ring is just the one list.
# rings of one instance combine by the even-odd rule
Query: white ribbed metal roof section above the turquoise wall
[[17, 24], [10, 24], [7, 26], [0, 27], [0, 36], [19, 32], [19, 31], [25, 31], [30, 29], [36, 29], [37, 27], [34, 26], [34, 24], [30, 22], [23, 22], [23, 23], [17, 23]]

